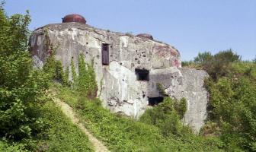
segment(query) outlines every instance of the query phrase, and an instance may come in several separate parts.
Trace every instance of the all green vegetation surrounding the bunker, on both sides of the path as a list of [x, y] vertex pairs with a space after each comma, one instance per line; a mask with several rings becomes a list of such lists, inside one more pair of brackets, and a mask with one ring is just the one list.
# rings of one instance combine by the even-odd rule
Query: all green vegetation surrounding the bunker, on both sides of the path
[[[256, 62], [241, 61], [232, 50], [199, 53], [184, 66], [206, 70], [208, 119], [200, 131], [183, 125], [186, 100], [163, 103], [135, 121], [110, 113], [96, 98], [94, 68], [79, 57], [62, 69], [54, 58], [33, 69], [27, 40], [30, 15], [5, 15], [0, 5], [0, 151], [92, 151], [88, 138], [66, 118], [46, 90], [68, 103], [82, 123], [113, 151], [255, 151]], [[93, 61], [92, 61], [93, 62]], [[159, 85], [160, 86], [160, 85]], [[160, 92], [162, 90], [159, 90]], [[163, 94], [165, 94], [162, 91]]]

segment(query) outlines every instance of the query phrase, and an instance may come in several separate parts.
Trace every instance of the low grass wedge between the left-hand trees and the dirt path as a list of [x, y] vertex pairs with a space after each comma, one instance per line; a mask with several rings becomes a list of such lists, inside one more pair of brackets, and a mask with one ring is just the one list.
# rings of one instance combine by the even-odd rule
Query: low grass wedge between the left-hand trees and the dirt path
[[0, 151], [94, 151], [88, 137], [68, 119], [53, 101], [48, 100], [41, 109], [45, 129], [33, 138], [20, 142], [0, 140]]

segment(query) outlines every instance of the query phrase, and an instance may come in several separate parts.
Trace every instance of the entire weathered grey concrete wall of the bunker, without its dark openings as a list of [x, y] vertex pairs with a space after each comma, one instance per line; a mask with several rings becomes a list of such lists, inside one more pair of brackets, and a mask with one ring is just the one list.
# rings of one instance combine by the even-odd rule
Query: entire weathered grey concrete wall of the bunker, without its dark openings
[[[103, 43], [109, 46], [109, 65], [101, 63]], [[180, 53], [173, 46], [79, 23], [40, 27], [32, 33], [30, 46], [38, 68], [43, 67], [47, 56], [56, 48], [56, 59], [62, 62], [64, 69], [69, 67], [70, 80], [72, 60], [76, 73], [79, 54], [85, 55], [85, 62], [93, 60], [98, 97], [112, 112], [138, 118], [148, 107], [148, 97], [161, 96], [156, 89], [156, 83], [161, 83], [171, 97], [187, 98], [184, 122], [198, 130], [205, 119], [203, 106], [207, 96], [201, 82], [206, 74], [181, 68]], [[149, 70], [149, 81], [137, 81], [136, 68]]]

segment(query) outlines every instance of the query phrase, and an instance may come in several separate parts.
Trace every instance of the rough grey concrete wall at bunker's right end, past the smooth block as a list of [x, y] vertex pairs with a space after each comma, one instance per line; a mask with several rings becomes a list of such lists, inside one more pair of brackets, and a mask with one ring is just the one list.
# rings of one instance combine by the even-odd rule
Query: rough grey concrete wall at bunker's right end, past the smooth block
[[204, 78], [209, 77], [206, 71], [192, 68], [179, 68], [182, 78], [174, 85], [168, 87], [165, 91], [171, 97], [187, 99], [187, 112], [184, 116], [184, 122], [199, 131], [204, 124], [207, 112], [208, 93], [203, 87]]

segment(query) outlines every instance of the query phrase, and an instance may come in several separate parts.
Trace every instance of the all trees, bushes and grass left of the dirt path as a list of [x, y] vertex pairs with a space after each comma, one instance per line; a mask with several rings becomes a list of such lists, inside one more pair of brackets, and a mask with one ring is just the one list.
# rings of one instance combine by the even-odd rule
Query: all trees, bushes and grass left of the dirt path
[[52, 65], [33, 69], [27, 51], [30, 15], [7, 17], [2, 7], [0, 151], [91, 151], [88, 138], [46, 97], [50, 78], [64, 82], [58, 79], [64, 78], [62, 65], [50, 56]]

